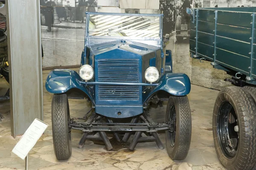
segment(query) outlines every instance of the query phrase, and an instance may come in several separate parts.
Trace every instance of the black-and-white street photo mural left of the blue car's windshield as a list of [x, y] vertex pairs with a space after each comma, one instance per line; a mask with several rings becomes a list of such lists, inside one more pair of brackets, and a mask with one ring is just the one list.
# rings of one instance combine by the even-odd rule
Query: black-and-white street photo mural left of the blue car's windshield
[[40, 0], [43, 67], [78, 66], [84, 49], [85, 12], [97, 0]]

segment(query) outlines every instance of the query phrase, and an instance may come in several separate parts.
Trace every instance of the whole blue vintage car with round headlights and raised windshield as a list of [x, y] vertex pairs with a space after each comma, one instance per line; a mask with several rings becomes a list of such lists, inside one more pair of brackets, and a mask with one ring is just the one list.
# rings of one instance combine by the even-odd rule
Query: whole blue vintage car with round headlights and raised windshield
[[[130, 150], [146, 141], [155, 141], [163, 149], [157, 132], [165, 130], [169, 156], [186, 158], [191, 139], [186, 96], [190, 80], [186, 74], [172, 72], [172, 52], [163, 42], [162, 17], [87, 13], [79, 72], [55, 69], [46, 81], [47, 91], [54, 94], [52, 133], [57, 159], [71, 155], [71, 129], [84, 132], [79, 148], [85, 140], [100, 140], [107, 150], [112, 149], [109, 133], [122, 142], [133, 135]], [[70, 118], [68, 98], [72, 97], [91, 102], [84, 117]], [[156, 123], [148, 109], [151, 103], [162, 106], [162, 101], [168, 101], [165, 122]]]

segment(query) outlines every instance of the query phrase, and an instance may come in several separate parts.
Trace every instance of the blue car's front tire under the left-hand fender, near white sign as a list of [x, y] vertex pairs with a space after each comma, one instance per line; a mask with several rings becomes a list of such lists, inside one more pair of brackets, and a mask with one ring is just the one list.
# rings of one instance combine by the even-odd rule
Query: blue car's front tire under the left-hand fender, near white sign
[[70, 158], [71, 130], [68, 128], [70, 119], [69, 105], [66, 94], [52, 97], [52, 138], [55, 156], [58, 160]]

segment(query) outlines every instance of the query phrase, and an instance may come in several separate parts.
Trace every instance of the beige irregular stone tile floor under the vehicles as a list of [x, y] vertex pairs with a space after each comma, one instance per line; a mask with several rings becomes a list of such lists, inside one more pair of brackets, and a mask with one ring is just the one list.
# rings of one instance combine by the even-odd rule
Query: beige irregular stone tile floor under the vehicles
[[[49, 71], [43, 71], [44, 81]], [[0, 94], [8, 84], [0, 79]], [[58, 161], [54, 155], [51, 126], [52, 95], [44, 89], [44, 121], [49, 124], [45, 134], [29, 153], [30, 170], [224, 170], [215, 153], [212, 137], [212, 110], [217, 90], [192, 85], [189, 102], [192, 112], [192, 140], [189, 154], [183, 161], [172, 161], [166, 150], [159, 150], [154, 142], [139, 143], [134, 151], [127, 146], [105, 146], [86, 141], [82, 149], [77, 148], [81, 132], [72, 130], [72, 156], [67, 161]], [[90, 109], [83, 100], [69, 100], [71, 116], [82, 116]], [[9, 101], [0, 102], [0, 111], [5, 119], [0, 122], [0, 170], [23, 170], [25, 162], [11, 152], [19, 138], [12, 138], [10, 128]], [[151, 117], [163, 121], [163, 108], [152, 108]], [[160, 138], [165, 144], [164, 133]]]

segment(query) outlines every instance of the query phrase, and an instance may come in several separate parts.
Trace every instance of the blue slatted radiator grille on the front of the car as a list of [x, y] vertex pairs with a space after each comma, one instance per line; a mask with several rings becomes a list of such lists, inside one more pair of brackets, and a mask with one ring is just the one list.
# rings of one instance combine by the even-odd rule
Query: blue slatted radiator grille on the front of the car
[[[99, 60], [99, 82], [139, 83], [139, 60]], [[99, 85], [99, 100], [139, 100], [139, 86]]]

